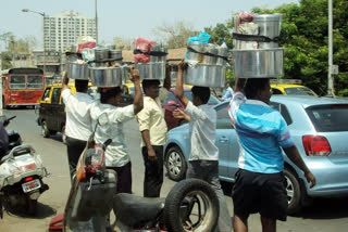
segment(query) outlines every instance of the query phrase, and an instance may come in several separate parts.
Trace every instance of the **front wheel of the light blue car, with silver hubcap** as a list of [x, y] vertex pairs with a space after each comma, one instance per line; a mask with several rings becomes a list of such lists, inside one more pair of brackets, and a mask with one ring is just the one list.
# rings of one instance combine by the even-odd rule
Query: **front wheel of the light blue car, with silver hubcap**
[[187, 164], [185, 156], [178, 146], [172, 146], [166, 152], [165, 167], [170, 179], [181, 181], [185, 178]]

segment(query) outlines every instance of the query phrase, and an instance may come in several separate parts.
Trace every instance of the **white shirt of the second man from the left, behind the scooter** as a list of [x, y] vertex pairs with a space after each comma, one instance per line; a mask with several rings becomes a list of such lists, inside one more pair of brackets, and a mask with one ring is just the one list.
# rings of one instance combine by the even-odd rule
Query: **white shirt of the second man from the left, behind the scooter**
[[100, 101], [97, 100], [90, 108], [94, 128], [96, 127], [98, 117], [103, 113], [107, 113], [109, 124], [97, 126], [95, 141], [96, 143], [102, 144], [108, 139], [112, 139], [112, 143], [108, 145], [105, 151], [105, 165], [108, 167], [122, 167], [130, 162], [125, 143], [123, 124], [135, 117], [134, 105], [116, 107], [110, 104], [101, 104]]

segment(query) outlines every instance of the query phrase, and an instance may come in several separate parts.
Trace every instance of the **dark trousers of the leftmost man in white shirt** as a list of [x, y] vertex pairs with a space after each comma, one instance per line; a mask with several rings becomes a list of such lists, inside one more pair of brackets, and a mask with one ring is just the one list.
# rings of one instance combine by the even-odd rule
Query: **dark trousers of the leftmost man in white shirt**
[[84, 152], [86, 144], [87, 144], [87, 141], [66, 137], [67, 162], [69, 162], [71, 180], [73, 180], [73, 176], [76, 171], [78, 158], [80, 154]]

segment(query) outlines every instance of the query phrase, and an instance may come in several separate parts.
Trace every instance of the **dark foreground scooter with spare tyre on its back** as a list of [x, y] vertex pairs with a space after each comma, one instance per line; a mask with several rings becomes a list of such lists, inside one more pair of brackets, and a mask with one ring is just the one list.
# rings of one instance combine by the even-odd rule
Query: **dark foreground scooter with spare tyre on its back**
[[[100, 117], [96, 125], [108, 123]], [[211, 232], [217, 224], [219, 199], [204, 181], [186, 179], [166, 198], [116, 193], [116, 173], [105, 169], [104, 151], [112, 142], [96, 144], [94, 133], [79, 157], [64, 215], [54, 217], [49, 231]], [[113, 209], [115, 221], [110, 223]]]

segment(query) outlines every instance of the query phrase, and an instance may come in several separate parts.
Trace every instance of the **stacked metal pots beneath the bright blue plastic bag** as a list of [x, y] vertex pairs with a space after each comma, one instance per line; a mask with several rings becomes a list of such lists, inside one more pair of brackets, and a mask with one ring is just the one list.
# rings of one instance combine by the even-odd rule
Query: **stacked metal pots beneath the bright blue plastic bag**
[[189, 42], [185, 62], [185, 82], [201, 87], [223, 87], [228, 65], [228, 48], [199, 41]]

